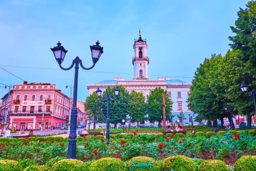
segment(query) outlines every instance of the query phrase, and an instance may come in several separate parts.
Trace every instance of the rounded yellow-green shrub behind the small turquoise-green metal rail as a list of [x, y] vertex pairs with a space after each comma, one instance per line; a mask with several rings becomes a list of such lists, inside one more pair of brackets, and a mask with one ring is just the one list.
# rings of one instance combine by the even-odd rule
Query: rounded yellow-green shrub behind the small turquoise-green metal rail
[[[154, 160], [153, 158], [149, 158], [149, 157], [144, 157], [144, 156], [137, 156], [135, 158], [131, 158], [128, 162], [127, 162], [127, 166], [129, 168], [129, 170], [131, 170], [131, 163], [137, 165], [137, 164], [150, 164], [151, 162], [153, 162], [153, 168], [156, 171], [160, 171], [160, 166], [158, 164], [158, 162], [156, 160]], [[134, 168], [133, 170], [141, 170], [141, 168]], [[144, 168], [143, 170], [145, 171], [150, 171], [151, 168], [147, 167]]]

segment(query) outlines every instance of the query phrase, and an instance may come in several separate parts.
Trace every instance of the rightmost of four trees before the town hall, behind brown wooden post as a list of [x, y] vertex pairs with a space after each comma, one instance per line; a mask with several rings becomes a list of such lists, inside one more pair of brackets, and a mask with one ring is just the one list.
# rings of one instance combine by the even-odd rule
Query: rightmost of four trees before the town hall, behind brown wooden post
[[162, 121], [163, 107], [162, 107], [162, 93], [165, 92], [166, 115], [170, 115], [172, 111], [172, 101], [169, 99], [167, 91], [160, 87], [154, 89], [148, 96], [148, 119], [150, 121], [158, 121], [158, 125]]

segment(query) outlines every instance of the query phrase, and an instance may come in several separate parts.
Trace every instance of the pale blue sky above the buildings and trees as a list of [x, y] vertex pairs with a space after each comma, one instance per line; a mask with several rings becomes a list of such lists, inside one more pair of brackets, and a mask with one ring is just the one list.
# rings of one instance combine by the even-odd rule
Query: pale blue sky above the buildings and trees
[[56, 84], [70, 96], [74, 68], [61, 70], [50, 48], [68, 50], [62, 66], [79, 56], [92, 66], [90, 45], [104, 53], [92, 70], [79, 68], [77, 100], [87, 85], [115, 77], [133, 79], [133, 43], [148, 43], [149, 77], [191, 82], [199, 64], [230, 49], [230, 26], [244, 0], [0, 0], [0, 97], [5, 85], [24, 80]]

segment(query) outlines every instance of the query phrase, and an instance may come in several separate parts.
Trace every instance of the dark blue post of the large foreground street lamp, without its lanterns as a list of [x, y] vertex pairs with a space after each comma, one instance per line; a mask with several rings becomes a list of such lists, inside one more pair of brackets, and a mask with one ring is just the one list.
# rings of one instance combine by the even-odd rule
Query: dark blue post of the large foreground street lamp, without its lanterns
[[78, 80], [78, 64], [79, 60], [75, 62], [75, 80], [73, 90], [73, 107], [71, 110], [71, 125], [69, 133], [69, 148], [67, 150], [67, 158], [76, 158], [76, 127], [77, 127], [77, 80]]

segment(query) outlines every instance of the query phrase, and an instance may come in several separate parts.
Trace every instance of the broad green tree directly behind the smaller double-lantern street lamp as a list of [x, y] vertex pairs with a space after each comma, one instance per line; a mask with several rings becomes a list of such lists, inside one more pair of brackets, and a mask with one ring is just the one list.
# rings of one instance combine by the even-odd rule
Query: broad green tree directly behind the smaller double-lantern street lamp
[[[109, 117], [110, 123], [114, 123], [117, 127], [117, 123], [121, 123], [122, 119], [125, 119], [128, 113], [129, 92], [124, 87], [118, 86], [120, 90], [119, 97], [115, 101], [109, 101]], [[102, 99], [106, 98], [106, 95], [115, 97], [116, 87], [108, 87], [102, 95]], [[100, 101], [100, 108], [103, 115], [106, 117], [106, 101]]]

